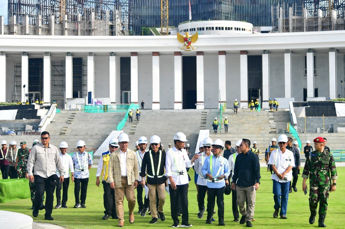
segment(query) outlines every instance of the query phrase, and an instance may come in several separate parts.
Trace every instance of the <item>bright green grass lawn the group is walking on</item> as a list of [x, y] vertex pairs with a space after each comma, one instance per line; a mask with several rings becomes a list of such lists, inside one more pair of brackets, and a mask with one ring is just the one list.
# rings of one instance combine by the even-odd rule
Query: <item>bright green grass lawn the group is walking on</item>
[[[339, 179], [337, 180], [337, 190], [330, 194], [328, 200], [328, 210], [325, 223], [328, 228], [344, 228], [345, 225], [345, 215], [344, 215], [344, 202], [342, 198], [345, 196], [345, 188], [343, 183], [345, 181], [345, 167], [337, 168]], [[109, 218], [108, 220], [102, 220], [103, 216], [103, 188], [102, 184], [100, 187], [96, 186], [96, 168], [91, 168], [91, 178], [89, 180], [86, 206], [87, 208], [72, 208], [75, 204], [74, 201], [74, 183], [70, 182], [69, 193], [68, 193], [68, 209], [53, 209], [52, 217], [53, 221], [44, 220], [44, 210], [40, 211], [37, 218], [33, 218], [35, 222], [49, 222], [54, 223], [67, 228], [108, 228], [117, 227], [117, 220]], [[302, 169], [301, 169], [302, 172]], [[193, 177], [194, 170], [191, 169], [189, 174]], [[317, 219], [314, 225], [310, 225], [309, 219], [309, 204], [308, 195], [305, 196], [302, 192], [302, 178], [299, 176], [297, 183], [298, 192], [293, 192], [289, 195], [287, 217], [288, 219], [283, 220], [279, 217], [274, 219], [274, 201], [272, 194], [272, 180], [270, 180], [270, 173], [266, 171], [263, 167], [261, 168], [261, 185], [256, 195], [256, 205], [255, 205], [255, 215], [253, 226], [255, 228], [315, 228], [317, 227]], [[29, 183], [29, 181], [28, 181]], [[218, 216], [215, 214], [214, 218], [216, 222], [213, 225], [206, 225], [206, 215], [204, 218], [198, 219], [198, 205], [196, 200], [196, 188], [193, 181], [190, 182], [190, 187], [188, 191], [189, 196], [189, 223], [194, 227], [201, 228], [216, 228], [218, 227]], [[28, 185], [29, 188], [29, 185]], [[54, 198], [56, 201], [56, 198]], [[233, 215], [231, 210], [231, 194], [229, 196], [225, 195], [225, 224], [227, 227], [232, 228], [244, 228], [245, 226], [239, 225], [238, 222], [233, 222]], [[126, 202], [126, 200], [125, 200]], [[206, 204], [206, 203], [205, 203]], [[54, 206], [56, 202], [54, 203]], [[26, 214], [32, 217], [32, 210], [30, 199], [16, 200], [7, 202], [0, 205], [1, 210], [14, 211], [22, 214]], [[215, 209], [217, 211], [217, 207]], [[135, 212], [138, 211], [136, 206]], [[140, 215], [135, 214], [134, 224], [128, 222], [128, 207], [125, 203], [125, 227], [131, 228], [141, 228], [141, 227], [151, 227], [151, 228], [167, 228], [172, 225], [172, 219], [170, 216], [170, 198], [166, 195], [166, 202], [164, 206], [164, 213], [166, 220], [164, 222], [158, 220], [158, 223], [150, 225], [149, 221], [151, 219], [150, 215], [145, 218], [140, 217]], [[181, 222], [181, 219], [180, 219]]]

